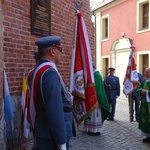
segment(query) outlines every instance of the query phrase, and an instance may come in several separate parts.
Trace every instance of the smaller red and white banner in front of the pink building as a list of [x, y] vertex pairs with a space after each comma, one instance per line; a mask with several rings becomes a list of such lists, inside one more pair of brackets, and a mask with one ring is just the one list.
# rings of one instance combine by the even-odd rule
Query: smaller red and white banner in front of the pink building
[[131, 45], [128, 66], [123, 82], [123, 92], [126, 95], [129, 95], [138, 85], [139, 77], [136, 71], [136, 64], [134, 58], [134, 49], [135, 47]]

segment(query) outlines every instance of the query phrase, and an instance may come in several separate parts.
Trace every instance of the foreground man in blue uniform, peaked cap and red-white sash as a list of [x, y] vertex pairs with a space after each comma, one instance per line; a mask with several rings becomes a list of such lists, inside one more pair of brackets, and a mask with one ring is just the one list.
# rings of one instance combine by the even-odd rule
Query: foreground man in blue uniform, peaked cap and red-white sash
[[62, 47], [59, 36], [35, 41], [40, 62], [33, 71], [30, 116], [39, 150], [68, 149], [72, 132], [72, 97], [57, 70]]

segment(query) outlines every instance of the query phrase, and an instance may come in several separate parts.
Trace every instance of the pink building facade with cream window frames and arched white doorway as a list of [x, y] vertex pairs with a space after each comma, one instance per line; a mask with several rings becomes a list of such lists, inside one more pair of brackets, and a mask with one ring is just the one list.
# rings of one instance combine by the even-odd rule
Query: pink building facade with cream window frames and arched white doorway
[[138, 72], [150, 67], [150, 0], [103, 0], [94, 10], [96, 64], [103, 77], [116, 69], [121, 88], [128, 64], [130, 45], [135, 49]]

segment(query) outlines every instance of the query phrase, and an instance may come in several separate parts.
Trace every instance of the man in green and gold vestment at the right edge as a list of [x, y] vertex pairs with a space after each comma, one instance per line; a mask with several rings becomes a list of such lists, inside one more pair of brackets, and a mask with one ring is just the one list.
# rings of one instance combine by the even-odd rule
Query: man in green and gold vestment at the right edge
[[146, 68], [145, 76], [146, 79], [137, 88], [141, 95], [139, 129], [146, 137], [142, 141], [150, 143], [150, 68]]

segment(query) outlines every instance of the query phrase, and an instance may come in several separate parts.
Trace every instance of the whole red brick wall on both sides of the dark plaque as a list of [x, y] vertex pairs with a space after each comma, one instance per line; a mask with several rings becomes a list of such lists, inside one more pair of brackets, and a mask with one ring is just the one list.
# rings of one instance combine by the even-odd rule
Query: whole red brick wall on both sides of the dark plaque
[[[81, 13], [85, 19], [91, 48], [93, 50], [93, 26], [89, 14], [89, 1], [82, 0]], [[30, 33], [30, 0], [3, 0], [4, 17], [4, 69], [8, 77], [11, 95], [20, 95], [23, 73], [33, 66], [35, 39]], [[71, 53], [74, 44], [75, 8], [71, 0], [51, 0], [51, 34], [62, 37], [64, 53], [58, 67], [69, 84]], [[62, 69], [61, 69], [62, 68]]]

